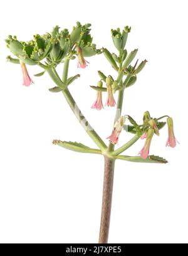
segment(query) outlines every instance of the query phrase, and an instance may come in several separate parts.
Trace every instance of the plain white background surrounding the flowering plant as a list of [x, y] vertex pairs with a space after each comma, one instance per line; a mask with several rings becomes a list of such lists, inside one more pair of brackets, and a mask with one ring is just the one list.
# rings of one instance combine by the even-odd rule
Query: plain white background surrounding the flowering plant
[[[56, 24], [71, 29], [78, 20], [92, 23], [93, 42], [110, 51], [115, 51], [110, 29], [132, 26], [127, 49], [139, 48], [138, 58], [149, 62], [125, 92], [123, 114], [138, 122], [146, 110], [153, 117], [168, 114], [180, 141], [175, 149], [165, 147], [167, 127], [154, 137], [150, 153], [165, 157], [168, 164], [117, 161], [109, 242], [188, 242], [186, 3], [17, 0], [1, 5], [0, 242], [98, 242], [103, 157], [51, 143], [61, 139], [95, 147], [63, 95], [48, 91], [53, 87], [48, 75], [33, 77], [40, 69], [28, 67], [34, 85], [22, 85], [19, 65], [6, 62], [4, 43], [8, 35], [26, 41]], [[70, 90], [105, 139], [115, 109], [91, 110], [95, 92], [89, 85], [96, 85], [97, 70], [114, 72], [102, 55], [88, 61], [86, 70], [77, 70], [76, 60], [71, 61], [70, 74], [81, 78]], [[131, 137], [123, 132], [119, 145]], [[137, 155], [143, 143], [138, 141], [126, 154]]]

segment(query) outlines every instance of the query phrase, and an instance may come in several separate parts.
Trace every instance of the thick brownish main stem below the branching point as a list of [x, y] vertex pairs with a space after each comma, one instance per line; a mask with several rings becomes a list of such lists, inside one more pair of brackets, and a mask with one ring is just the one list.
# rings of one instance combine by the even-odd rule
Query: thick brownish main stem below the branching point
[[108, 233], [110, 228], [110, 215], [111, 215], [111, 208], [112, 208], [114, 166], [115, 166], [115, 161], [105, 156], [102, 216], [101, 216], [100, 235], [99, 235], [98, 243], [108, 242]]

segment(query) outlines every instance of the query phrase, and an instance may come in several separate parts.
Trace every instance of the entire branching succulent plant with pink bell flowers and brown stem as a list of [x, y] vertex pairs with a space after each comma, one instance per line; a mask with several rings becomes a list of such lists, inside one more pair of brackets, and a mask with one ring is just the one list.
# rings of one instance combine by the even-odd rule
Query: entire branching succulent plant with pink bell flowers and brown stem
[[[76, 26], [73, 27], [71, 33], [68, 29], [60, 31], [60, 28], [55, 26], [51, 33], [34, 35], [33, 39], [28, 42], [18, 41], [16, 36], [8, 36], [8, 39], [6, 40], [7, 46], [16, 58], [8, 56], [7, 60], [11, 63], [21, 65], [23, 71], [23, 84], [27, 87], [33, 83], [33, 80], [29, 77], [26, 67], [27, 65], [38, 65], [43, 69], [41, 73], [35, 75], [36, 77], [48, 73], [53, 83], [55, 83], [55, 86], [49, 89], [50, 92], [63, 93], [63, 96], [73, 111], [73, 114], [75, 114], [76, 119], [78, 119], [92, 141], [95, 142], [97, 149], [85, 146], [80, 142], [55, 140], [53, 141], [53, 144], [71, 151], [100, 154], [104, 156], [105, 171], [99, 243], [107, 243], [110, 228], [115, 161], [120, 159], [137, 163], [167, 163], [164, 158], [150, 155], [149, 153], [152, 137], [155, 135], [159, 136], [160, 129], [166, 124], [166, 122], [161, 122], [161, 119], [167, 118], [167, 125], [169, 128], [166, 146], [175, 147], [176, 139], [174, 136], [173, 120], [169, 115], [151, 117], [149, 111], [146, 111], [143, 115], [142, 124], [138, 124], [135, 119], [130, 117], [130, 115], [122, 114], [124, 91], [137, 81], [138, 73], [143, 70], [147, 63], [146, 60], [141, 61], [140, 64], [138, 64], [138, 60], [135, 61], [138, 49], [131, 51], [129, 54], [125, 49], [130, 28], [126, 26], [122, 31], [120, 31], [119, 28], [115, 30], [112, 29], [112, 40], [118, 53], [115, 54], [110, 53], [107, 48], [97, 49], [96, 45], [92, 43], [93, 38], [91, 38], [90, 35], [90, 26], [90, 24], [81, 25], [78, 22]], [[76, 74], [73, 77], [68, 77], [70, 61], [77, 58], [77, 67], [86, 68], [87, 65], [89, 65], [89, 62], [86, 59], [101, 53], [103, 53], [105, 58], [107, 58], [108, 63], [110, 63], [112, 68], [117, 72], [117, 77], [112, 77], [112, 75], [107, 76], [103, 72], [98, 71], [100, 80], [98, 81], [97, 86], [91, 86], [91, 88], [97, 92], [97, 99], [91, 106], [93, 109], [104, 109], [103, 97], [105, 95], [107, 97], [105, 107], [117, 107], [112, 134], [107, 137], [110, 141], [108, 146], [93, 127], [91, 127], [88, 120], [86, 120], [86, 117], [82, 114], [68, 88], [80, 77], [79, 74]], [[56, 67], [61, 64], [63, 64], [62, 77], [56, 71]], [[104, 84], [105, 86], [103, 86]], [[115, 94], [117, 93], [118, 97], [116, 101]], [[122, 147], [115, 149], [120, 136], [123, 137], [123, 131], [132, 133], [133, 137], [130, 141], [123, 144]], [[122, 155], [122, 153], [135, 144], [138, 139], [145, 139], [144, 147], [139, 153], [140, 156]]]

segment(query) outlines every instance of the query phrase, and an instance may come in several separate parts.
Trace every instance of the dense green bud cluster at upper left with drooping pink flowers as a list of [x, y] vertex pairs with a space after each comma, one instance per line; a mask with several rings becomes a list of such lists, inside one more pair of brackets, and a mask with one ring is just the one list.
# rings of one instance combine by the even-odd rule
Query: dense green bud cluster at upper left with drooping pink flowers
[[[77, 22], [71, 33], [68, 29], [60, 31], [60, 27], [55, 26], [51, 33], [34, 35], [33, 39], [28, 42], [18, 41], [16, 36], [8, 36], [5, 41], [16, 58], [8, 56], [7, 60], [21, 64], [23, 85], [27, 87], [33, 81], [29, 77], [26, 65], [39, 65], [48, 69], [56, 67], [65, 59], [73, 60], [77, 56], [77, 67], [86, 68], [88, 61], [84, 57], [101, 53], [100, 50], [97, 50], [96, 45], [92, 43], [90, 26], [91, 24], [88, 23], [82, 26]], [[39, 75], [43, 75], [43, 72]]]

